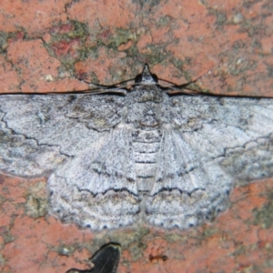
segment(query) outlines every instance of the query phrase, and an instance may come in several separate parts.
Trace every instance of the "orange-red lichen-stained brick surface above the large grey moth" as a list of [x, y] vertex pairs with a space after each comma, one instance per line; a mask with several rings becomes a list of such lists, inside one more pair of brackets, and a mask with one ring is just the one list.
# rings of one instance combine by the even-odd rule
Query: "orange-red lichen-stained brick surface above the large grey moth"
[[0, 13], [1, 92], [112, 85], [149, 64], [205, 92], [272, 93], [272, 2], [8, 1]]

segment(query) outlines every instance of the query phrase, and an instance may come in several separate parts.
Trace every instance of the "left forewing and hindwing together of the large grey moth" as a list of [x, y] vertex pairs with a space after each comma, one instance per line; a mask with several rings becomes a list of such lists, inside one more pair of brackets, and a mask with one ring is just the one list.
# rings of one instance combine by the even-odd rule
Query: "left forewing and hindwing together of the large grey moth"
[[93, 229], [131, 223], [138, 203], [130, 177], [130, 134], [122, 124], [125, 100], [0, 96], [0, 170], [18, 176], [53, 172], [50, 203], [65, 220]]

